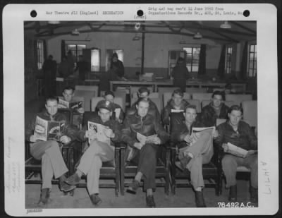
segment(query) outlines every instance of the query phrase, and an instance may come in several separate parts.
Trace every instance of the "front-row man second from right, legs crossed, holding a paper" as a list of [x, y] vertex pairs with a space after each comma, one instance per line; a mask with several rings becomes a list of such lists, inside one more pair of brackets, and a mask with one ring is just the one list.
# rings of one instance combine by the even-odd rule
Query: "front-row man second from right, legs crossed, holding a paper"
[[176, 162], [176, 166], [181, 170], [188, 169], [190, 171], [191, 183], [195, 189], [196, 205], [197, 207], [206, 207], [202, 193], [204, 188], [202, 164], [207, 164], [212, 159], [214, 155], [212, 137], [215, 138], [218, 133], [217, 131], [201, 133], [200, 138], [192, 144], [192, 128], [204, 127], [204, 125], [196, 120], [195, 105], [188, 105], [185, 108], [184, 116], [185, 121], [180, 121], [171, 133], [171, 140], [178, 143], [180, 162]]

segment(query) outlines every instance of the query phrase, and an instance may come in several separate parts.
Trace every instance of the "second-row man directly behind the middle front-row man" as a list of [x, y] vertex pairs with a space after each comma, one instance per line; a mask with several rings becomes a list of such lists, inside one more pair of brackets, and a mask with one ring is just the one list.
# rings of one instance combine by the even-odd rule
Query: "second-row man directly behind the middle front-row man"
[[[157, 108], [157, 105], [154, 104], [154, 102], [152, 102], [151, 99], [149, 99], [149, 90], [147, 89], [147, 87], [140, 87], [137, 95], [138, 95], [138, 98], [142, 97], [142, 98], [145, 98], [145, 99], [148, 100], [148, 102], [149, 102], [148, 114], [151, 114], [152, 116], [156, 117], [157, 121], [161, 121], [161, 116], [159, 114], [159, 110]], [[138, 100], [137, 100], [137, 102], [138, 102]], [[126, 114], [135, 114], [137, 102], [133, 103], [133, 105], [130, 107], [130, 109], [128, 109], [126, 111]]]

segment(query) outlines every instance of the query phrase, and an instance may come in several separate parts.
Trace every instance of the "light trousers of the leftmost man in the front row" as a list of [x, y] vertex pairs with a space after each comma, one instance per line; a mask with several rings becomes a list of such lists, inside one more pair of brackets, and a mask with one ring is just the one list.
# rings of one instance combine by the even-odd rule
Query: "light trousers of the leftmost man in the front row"
[[30, 154], [35, 159], [42, 160], [42, 188], [51, 188], [53, 176], [59, 178], [68, 171], [61, 155], [59, 143], [55, 140], [32, 143]]

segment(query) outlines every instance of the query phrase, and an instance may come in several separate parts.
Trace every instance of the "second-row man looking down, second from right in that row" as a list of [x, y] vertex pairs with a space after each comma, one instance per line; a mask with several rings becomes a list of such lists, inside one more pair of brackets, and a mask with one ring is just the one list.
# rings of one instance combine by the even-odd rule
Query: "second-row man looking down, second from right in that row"
[[[170, 117], [171, 117], [171, 110], [182, 110], [184, 111], [185, 107], [189, 105], [188, 102], [183, 99], [183, 92], [181, 90], [174, 90], [172, 93], [172, 98], [167, 102], [166, 107], [164, 107], [163, 111], [163, 117], [162, 121], [165, 125], [168, 125], [170, 123]], [[180, 113], [181, 116], [183, 113]], [[184, 116], [183, 116], [184, 119]]]

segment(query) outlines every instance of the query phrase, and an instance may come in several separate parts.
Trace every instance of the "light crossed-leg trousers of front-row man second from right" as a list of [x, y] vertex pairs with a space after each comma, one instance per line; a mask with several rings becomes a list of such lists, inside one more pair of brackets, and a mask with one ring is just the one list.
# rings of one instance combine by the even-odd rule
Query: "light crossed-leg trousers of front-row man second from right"
[[202, 175], [202, 164], [207, 164], [214, 155], [214, 147], [212, 135], [210, 133], [202, 133], [201, 137], [190, 147], [183, 147], [179, 150], [179, 157], [186, 156], [188, 153], [193, 158], [187, 164], [190, 171], [190, 179], [193, 188], [204, 187], [204, 178]]

